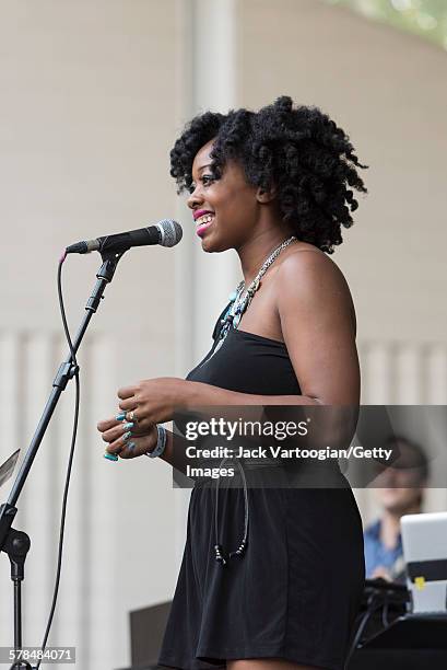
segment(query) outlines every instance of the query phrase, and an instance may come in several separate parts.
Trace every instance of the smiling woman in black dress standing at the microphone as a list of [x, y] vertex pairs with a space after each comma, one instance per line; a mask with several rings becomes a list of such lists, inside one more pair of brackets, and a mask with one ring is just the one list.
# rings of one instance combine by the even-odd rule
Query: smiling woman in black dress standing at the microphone
[[[106, 455], [181, 469], [181, 442], [160, 426], [174, 407], [358, 405], [354, 308], [328, 256], [352, 224], [352, 189], [366, 192], [349, 137], [283, 96], [197, 116], [170, 160], [203, 251], [234, 249], [244, 280], [186, 380], [118, 391], [121, 414], [98, 424]], [[215, 505], [214, 487], [195, 486], [158, 663], [342, 670], [364, 581], [351, 488], [221, 488], [217, 520]]]

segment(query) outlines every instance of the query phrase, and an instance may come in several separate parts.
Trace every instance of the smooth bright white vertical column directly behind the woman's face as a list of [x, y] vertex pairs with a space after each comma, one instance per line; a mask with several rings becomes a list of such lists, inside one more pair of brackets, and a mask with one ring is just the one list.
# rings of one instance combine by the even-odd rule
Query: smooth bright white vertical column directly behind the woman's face
[[[235, 106], [235, 1], [179, 0], [177, 4], [178, 132], [192, 116]], [[173, 138], [174, 143], [175, 138]], [[234, 250], [205, 254], [192, 217], [179, 198], [184, 239], [176, 250], [176, 374], [184, 377], [211, 348], [212, 328], [239, 279]], [[185, 544], [189, 492], [177, 490], [176, 553]]]

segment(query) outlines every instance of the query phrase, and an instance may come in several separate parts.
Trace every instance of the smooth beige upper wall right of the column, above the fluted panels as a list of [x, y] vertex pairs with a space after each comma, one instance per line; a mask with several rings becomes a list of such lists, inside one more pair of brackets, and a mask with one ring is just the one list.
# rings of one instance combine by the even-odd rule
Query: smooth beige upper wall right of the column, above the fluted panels
[[238, 4], [238, 103], [290, 94], [350, 135], [369, 195], [333, 259], [361, 339], [446, 342], [447, 54], [315, 0]]

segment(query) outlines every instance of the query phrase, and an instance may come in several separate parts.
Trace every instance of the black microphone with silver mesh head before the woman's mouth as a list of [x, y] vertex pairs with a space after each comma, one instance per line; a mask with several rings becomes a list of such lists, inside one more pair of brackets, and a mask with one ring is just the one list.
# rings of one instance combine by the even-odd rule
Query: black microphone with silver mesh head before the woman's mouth
[[162, 246], [175, 246], [181, 240], [184, 231], [181, 226], [173, 219], [163, 219], [156, 226], [148, 226], [138, 230], [129, 230], [123, 233], [105, 235], [95, 240], [84, 240], [67, 246], [66, 254], [89, 254], [92, 251], [123, 252], [131, 246], [146, 246], [161, 244]]

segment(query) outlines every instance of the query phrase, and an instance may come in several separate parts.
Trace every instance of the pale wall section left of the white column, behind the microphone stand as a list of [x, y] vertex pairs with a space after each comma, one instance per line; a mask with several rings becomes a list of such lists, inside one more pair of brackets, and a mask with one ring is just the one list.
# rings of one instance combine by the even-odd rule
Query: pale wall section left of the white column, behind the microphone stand
[[[0, 3], [0, 412], [8, 427], [0, 460], [26, 448], [64, 351], [56, 336], [61, 250], [173, 213], [176, 30], [170, 0]], [[175, 586], [170, 473], [149, 459], [106, 461], [95, 426], [114, 414], [119, 386], [175, 373], [177, 251], [133, 250], [122, 258], [80, 356], [81, 426], [50, 637], [78, 647], [79, 668], [128, 665], [127, 612], [165, 600]], [[99, 261], [66, 262], [72, 327]], [[72, 412], [71, 388], [19, 504], [15, 527], [33, 543], [24, 587], [28, 645], [40, 643], [49, 611]], [[4, 555], [0, 584], [0, 644], [7, 645], [12, 588]]]

